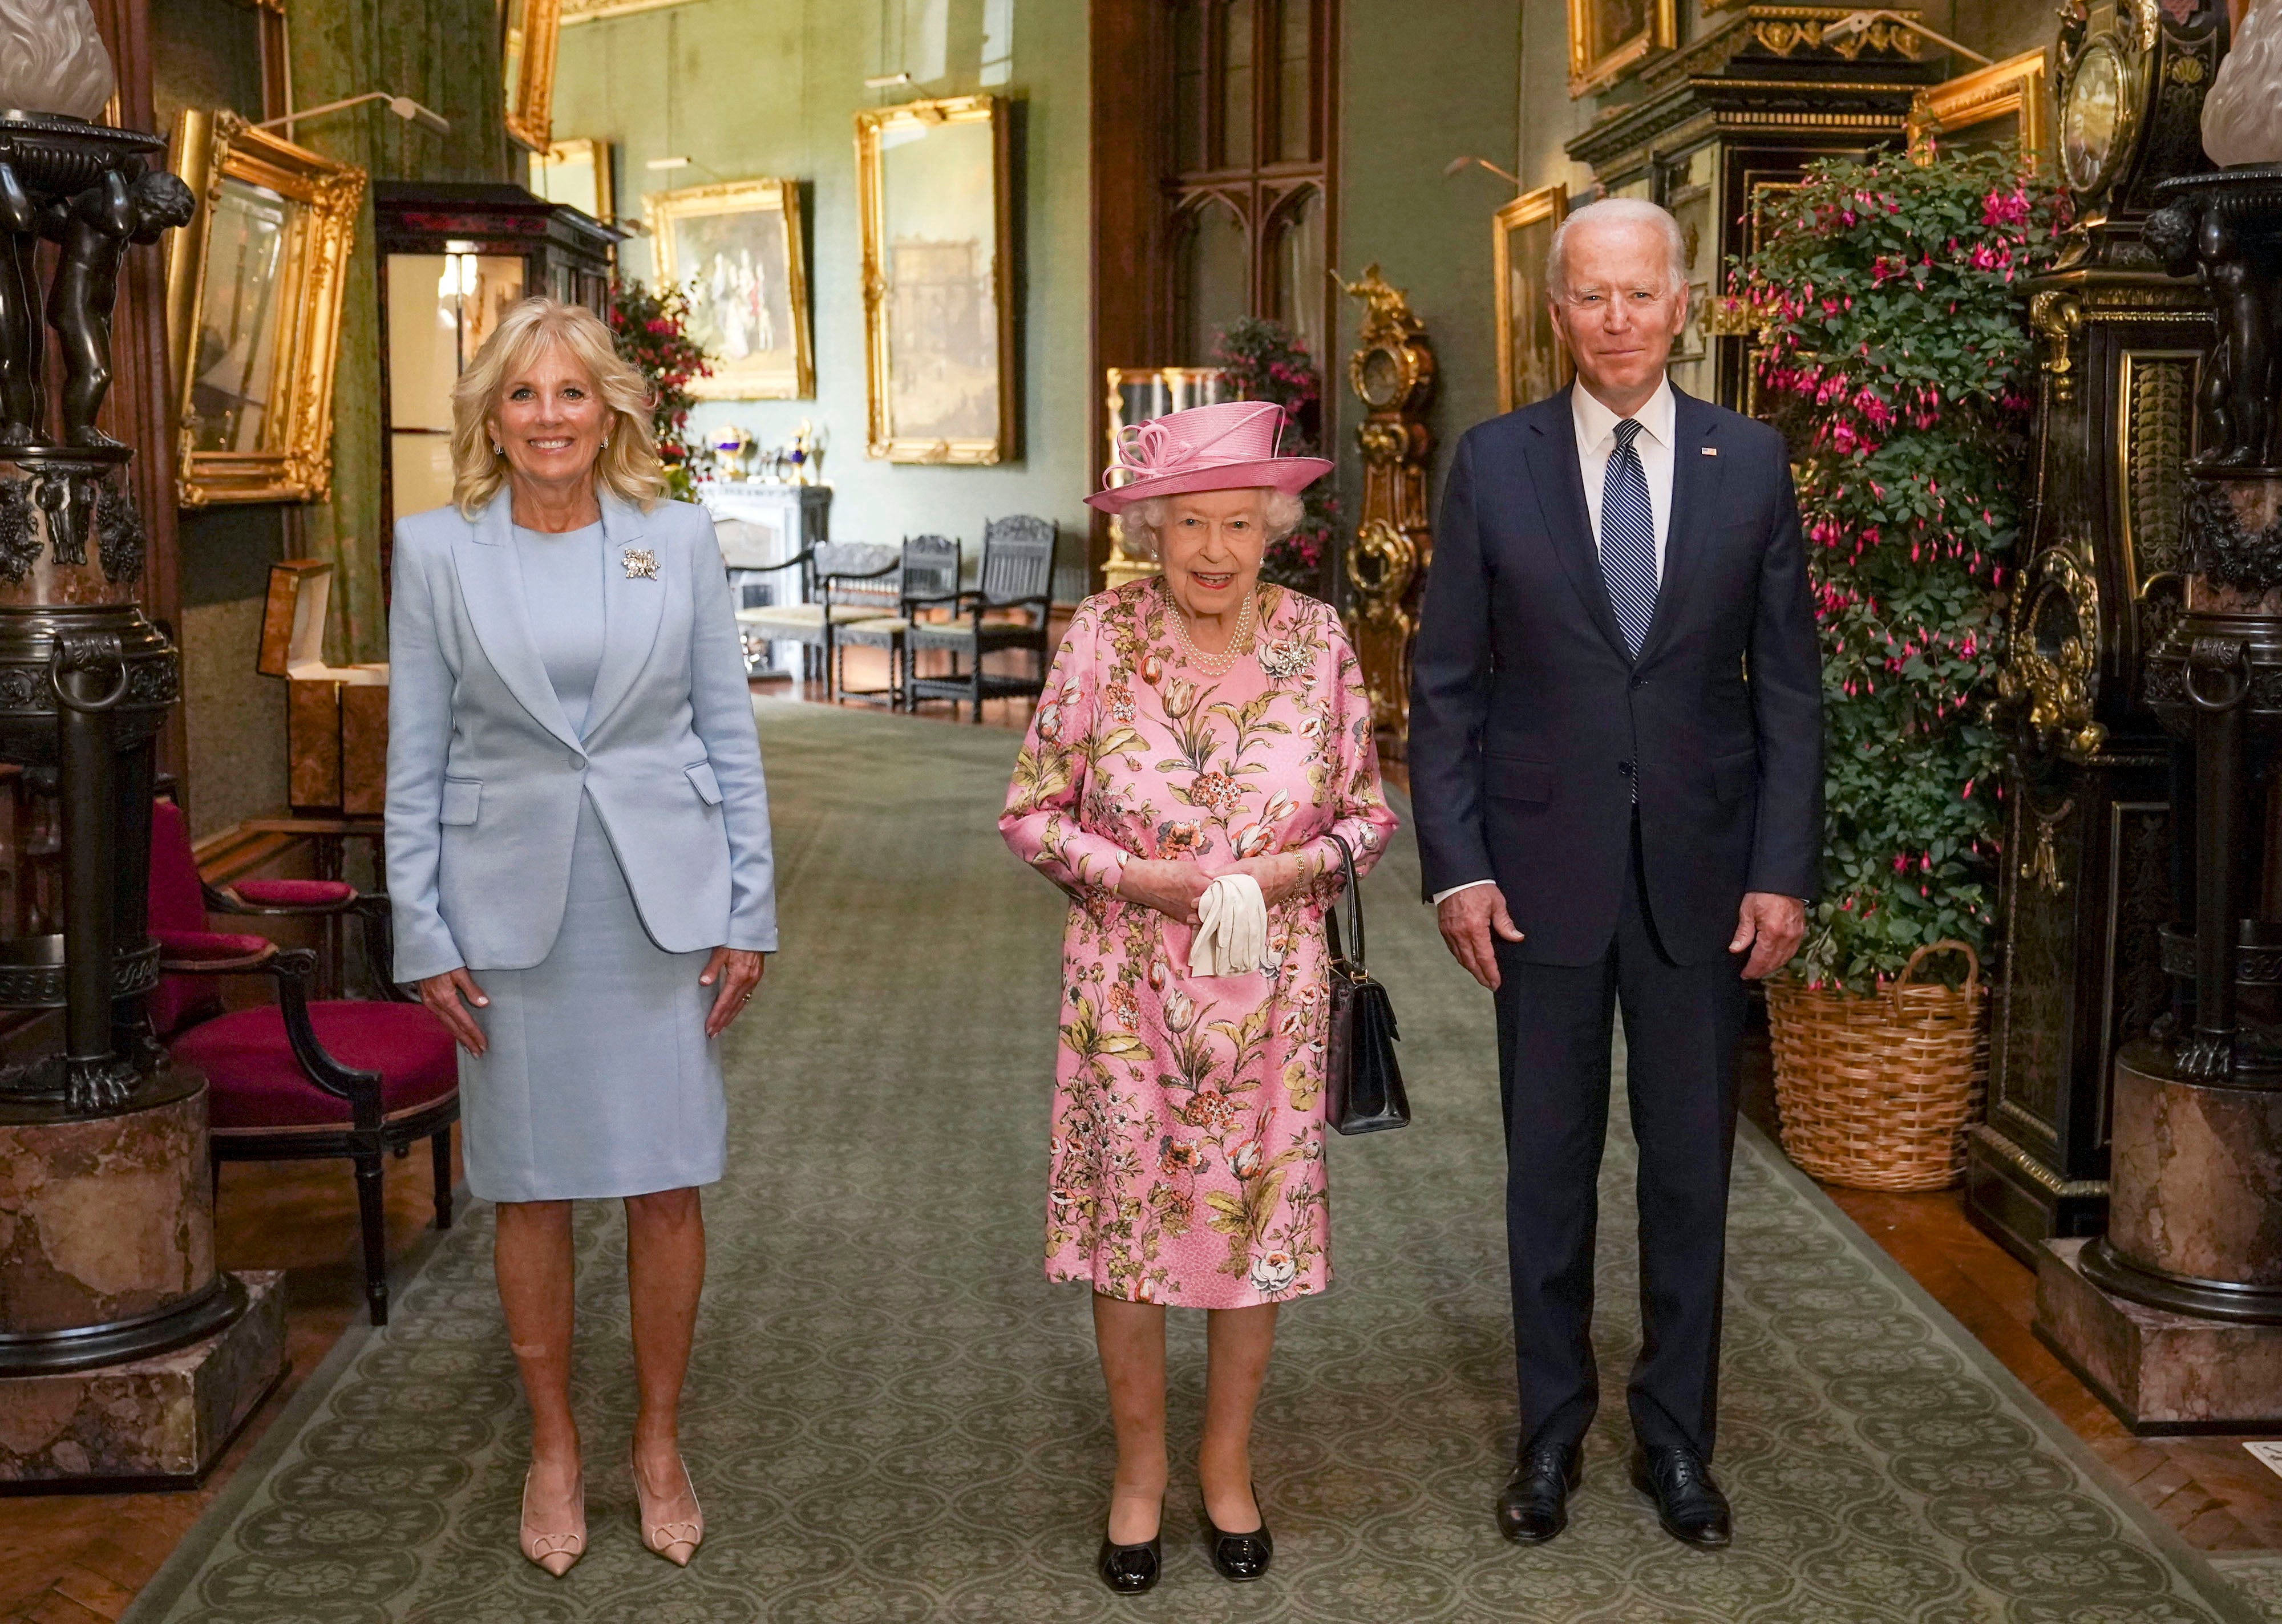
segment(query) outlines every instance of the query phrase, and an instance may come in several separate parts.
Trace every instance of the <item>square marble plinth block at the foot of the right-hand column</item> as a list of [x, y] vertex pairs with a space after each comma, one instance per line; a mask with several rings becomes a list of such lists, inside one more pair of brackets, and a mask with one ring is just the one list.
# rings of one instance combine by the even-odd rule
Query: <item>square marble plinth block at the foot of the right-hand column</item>
[[2083, 1241], [2047, 1241], [2036, 1337], [2141, 1435], [2282, 1430], [2282, 1325], [2172, 1314], [2083, 1277]]

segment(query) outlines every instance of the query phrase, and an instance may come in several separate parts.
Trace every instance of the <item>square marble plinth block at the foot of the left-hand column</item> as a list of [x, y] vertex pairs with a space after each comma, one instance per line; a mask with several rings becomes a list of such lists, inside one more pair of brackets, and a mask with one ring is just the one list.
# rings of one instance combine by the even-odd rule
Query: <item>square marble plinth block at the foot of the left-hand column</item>
[[0, 1378], [0, 1494], [192, 1487], [285, 1373], [285, 1275], [235, 1275], [246, 1312], [173, 1353]]

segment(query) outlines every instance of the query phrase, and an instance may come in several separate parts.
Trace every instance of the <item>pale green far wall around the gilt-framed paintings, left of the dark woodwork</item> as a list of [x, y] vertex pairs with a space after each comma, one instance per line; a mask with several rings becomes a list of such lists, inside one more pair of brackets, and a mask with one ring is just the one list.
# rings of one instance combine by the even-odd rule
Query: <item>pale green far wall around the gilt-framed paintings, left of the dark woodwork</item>
[[[986, 27], [1011, 16], [1011, 71], [984, 82]], [[940, 41], [940, 46], [938, 46]], [[913, 84], [867, 91], [874, 75]], [[856, 219], [858, 107], [993, 91], [1015, 100], [1015, 292], [1022, 449], [995, 468], [915, 468], [865, 454], [865, 333]], [[614, 141], [618, 214], [641, 194], [753, 176], [808, 192], [817, 395], [705, 401], [691, 427], [735, 422], [762, 445], [803, 417], [828, 433], [837, 541], [958, 536], [970, 559], [1000, 513], [1061, 522], [1084, 557], [1084, 495], [1100, 470], [1089, 431], [1089, 176], [1084, 0], [694, 0], [561, 32], [555, 137]], [[689, 157], [653, 171], [655, 157]], [[650, 244], [618, 251], [650, 278]]]

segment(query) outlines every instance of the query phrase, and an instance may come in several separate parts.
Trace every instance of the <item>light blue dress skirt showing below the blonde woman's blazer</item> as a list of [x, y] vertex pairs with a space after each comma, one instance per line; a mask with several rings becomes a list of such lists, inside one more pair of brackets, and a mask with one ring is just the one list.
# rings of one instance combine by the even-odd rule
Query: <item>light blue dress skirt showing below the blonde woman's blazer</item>
[[564, 928], [532, 969], [470, 972], [482, 1056], [459, 1051], [468, 1191], [486, 1202], [648, 1195], [721, 1177], [728, 1102], [705, 1038], [705, 951], [641, 928], [609, 835], [580, 801]]

